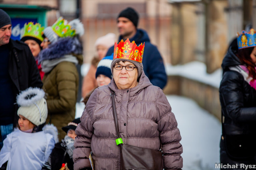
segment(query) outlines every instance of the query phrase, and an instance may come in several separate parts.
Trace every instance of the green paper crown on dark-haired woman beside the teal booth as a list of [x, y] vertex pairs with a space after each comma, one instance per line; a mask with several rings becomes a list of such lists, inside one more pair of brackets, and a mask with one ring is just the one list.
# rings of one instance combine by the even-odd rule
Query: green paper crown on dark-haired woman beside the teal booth
[[42, 37], [43, 30], [44, 30], [44, 27], [41, 27], [41, 24], [39, 23], [34, 24], [34, 22], [28, 22], [28, 24], [26, 23], [24, 25], [24, 34], [22, 38], [29, 36], [29, 37], [37, 38], [40, 41], [43, 41], [44, 40], [44, 38]]

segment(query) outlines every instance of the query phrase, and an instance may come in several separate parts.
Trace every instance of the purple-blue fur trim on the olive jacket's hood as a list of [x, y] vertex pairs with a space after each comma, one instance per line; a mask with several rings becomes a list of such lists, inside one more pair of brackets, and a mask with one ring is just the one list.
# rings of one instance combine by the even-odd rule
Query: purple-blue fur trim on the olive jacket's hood
[[73, 38], [59, 38], [56, 43], [50, 44], [48, 48], [43, 49], [38, 56], [38, 62], [44, 60], [52, 60], [63, 57], [67, 54], [76, 56], [79, 63], [81, 62], [82, 45], [77, 39]]

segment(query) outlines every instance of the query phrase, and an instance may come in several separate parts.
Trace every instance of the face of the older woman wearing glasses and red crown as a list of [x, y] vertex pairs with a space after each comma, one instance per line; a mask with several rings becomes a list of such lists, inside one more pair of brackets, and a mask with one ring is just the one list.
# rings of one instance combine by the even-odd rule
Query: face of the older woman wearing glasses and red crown
[[[134, 66], [129, 61], [120, 61], [117, 62], [115, 65], [120, 66]], [[137, 68], [134, 68], [132, 71], [127, 71], [125, 67], [123, 67], [121, 70], [113, 68], [113, 78], [115, 80], [115, 83], [117, 85], [118, 89], [128, 89], [133, 88], [137, 85], [137, 79], [138, 79], [138, 70]]]

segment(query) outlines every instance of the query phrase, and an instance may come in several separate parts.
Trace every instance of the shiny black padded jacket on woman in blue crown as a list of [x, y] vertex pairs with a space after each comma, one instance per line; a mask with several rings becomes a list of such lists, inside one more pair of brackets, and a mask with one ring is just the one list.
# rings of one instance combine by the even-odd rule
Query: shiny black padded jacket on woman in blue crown
[[256, 135], [256, 90], [240, 73], [229, 69], [230, 66], [242, 65], [235, 55], [237, 50], [237, 45], [230, 46], [222, 62], [223, 78], [219, 91], [224, 126], [228, 135]]

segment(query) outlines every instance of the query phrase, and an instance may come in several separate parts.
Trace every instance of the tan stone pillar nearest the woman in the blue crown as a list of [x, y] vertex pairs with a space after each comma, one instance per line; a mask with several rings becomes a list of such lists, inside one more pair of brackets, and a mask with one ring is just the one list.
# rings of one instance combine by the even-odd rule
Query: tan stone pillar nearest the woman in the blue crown
[[226, 0], [206, 3], [206, 67], [212, 73], [220, 68], [228, 48], [228, 20]]

